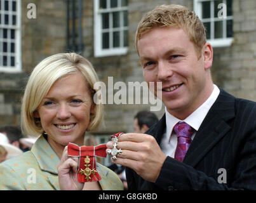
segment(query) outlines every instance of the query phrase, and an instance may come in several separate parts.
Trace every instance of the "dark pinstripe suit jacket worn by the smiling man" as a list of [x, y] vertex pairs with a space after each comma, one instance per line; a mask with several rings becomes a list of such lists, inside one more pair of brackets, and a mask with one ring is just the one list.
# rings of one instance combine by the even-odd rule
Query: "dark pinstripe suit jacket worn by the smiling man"
[[[160, 143], [165, 128], [164, 115], [146, 134]], [[126, 178], [128, 190], [256, 190], [256, 103], [220, 89], [184, 162], [167, 157], [156, 183], [130, 168]]]

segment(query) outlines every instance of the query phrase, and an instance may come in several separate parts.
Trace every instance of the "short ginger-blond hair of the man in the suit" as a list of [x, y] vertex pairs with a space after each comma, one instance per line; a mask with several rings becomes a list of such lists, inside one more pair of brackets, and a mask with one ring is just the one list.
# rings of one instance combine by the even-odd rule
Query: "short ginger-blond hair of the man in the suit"
[[[194, 11], [189, 11], [185, 6], [170, 4], [161, 5], [147, 12], [138, 23], [135, 46], [145, 32], [156, 27], [178, 27], [183, 29], [194, 44], [194, 48], [201, 56], [201, 50], [206, 43], [205, 27]], [[139, 53], [138, 53], [139, 54]]]

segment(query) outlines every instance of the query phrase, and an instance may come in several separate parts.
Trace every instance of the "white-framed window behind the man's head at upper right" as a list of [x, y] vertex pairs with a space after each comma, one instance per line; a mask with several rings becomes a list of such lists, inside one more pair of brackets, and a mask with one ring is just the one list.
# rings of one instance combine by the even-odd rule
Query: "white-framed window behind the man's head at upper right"
[[194, 11], [206, 28], [206, 38], [213, 47], [232, 43], [232, 0], [194, 0]]

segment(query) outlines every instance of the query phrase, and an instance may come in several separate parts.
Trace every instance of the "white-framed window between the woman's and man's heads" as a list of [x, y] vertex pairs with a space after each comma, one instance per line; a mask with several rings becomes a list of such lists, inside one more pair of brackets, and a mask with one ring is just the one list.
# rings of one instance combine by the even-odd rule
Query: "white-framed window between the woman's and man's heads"
[[94, 1], [95, 56], [125, 55], [128, 51], [128, 0]]

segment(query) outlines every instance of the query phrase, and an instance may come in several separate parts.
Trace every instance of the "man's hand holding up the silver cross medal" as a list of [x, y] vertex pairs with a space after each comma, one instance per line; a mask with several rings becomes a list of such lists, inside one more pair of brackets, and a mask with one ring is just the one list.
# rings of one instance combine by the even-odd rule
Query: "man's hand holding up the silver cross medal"
[[[107, 142], [107, 148], [112, 149], [112, 145], [112, 141]], [[118, 159], [111, 160], [112, 162], [130, 167], [144, 180], [156, 182], [166, 155], [153, 136], [139, 133], [122, 134], [118, 138], [117, 148], [121, 148], [123, 152], [117, 155]]]

